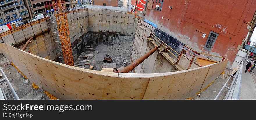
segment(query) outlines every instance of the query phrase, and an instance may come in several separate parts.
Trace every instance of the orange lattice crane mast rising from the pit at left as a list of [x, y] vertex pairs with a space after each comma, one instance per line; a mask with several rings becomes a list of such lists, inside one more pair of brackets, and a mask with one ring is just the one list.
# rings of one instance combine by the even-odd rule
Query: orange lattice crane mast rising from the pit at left
[[61, 48], [66, 65], [74, 66], [72, 48], [70, 43], [69, 28], [65, 0], [52, 0], [57, 27], [60, 34]]

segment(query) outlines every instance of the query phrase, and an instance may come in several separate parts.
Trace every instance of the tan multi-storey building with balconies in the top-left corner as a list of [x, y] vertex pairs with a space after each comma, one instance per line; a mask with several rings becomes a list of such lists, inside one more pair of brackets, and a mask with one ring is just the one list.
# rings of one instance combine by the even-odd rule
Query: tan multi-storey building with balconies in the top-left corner
[[23, 0], [1, 0], [0, 26], [5, 25], [6, 23], [14, 23], [19, 21], [19, 17], [13, 3], [16, 5], [17, 11], [21, 17], [21, 21], [30, 19], [29, 11], [27, 10]]

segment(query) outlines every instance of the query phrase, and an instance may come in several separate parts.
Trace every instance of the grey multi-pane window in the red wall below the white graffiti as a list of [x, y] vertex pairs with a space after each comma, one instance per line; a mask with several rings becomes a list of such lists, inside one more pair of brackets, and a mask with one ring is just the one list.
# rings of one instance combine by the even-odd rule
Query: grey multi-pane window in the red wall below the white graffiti
[[214, 45], [218, 35], [219, 34], [216, 33], [216, 32], [213, 32], [213, 31], [210, 32], [210, 34], [209, 34], [209, 36], [207, 38], [207, 41], [205, 43], [205, 47], [204, 47], [205, 50], [211, 52], [211, 49], [212, 49], [212, 47], [213, 47], [213, 45]]

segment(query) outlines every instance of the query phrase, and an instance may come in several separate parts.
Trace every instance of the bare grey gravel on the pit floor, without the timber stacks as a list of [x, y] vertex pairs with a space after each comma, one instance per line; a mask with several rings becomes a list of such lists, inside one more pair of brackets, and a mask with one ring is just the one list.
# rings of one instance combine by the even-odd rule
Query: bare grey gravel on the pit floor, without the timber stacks
[[[99, 45], [88, 43], [85, 48], [97, 49], [95, 50], [94, 57], [90, 59], [90, 61], [94, 60], [95, 70], [101, 70], [106, 54], [109, 54], [108, 57], [112, 58], [112, 63], [116, 63], [116, 68], [120, 68], [130, 64], [133, 41], [134, 37], [132, 36], [119, 36], [113, 41], [109, 41], [109, 43], [101, 43]], [[98, 54], [97, 51], [99, 51]], [[88, 53], [88, 51], [83, 52]], [[88, 68], [89, 65], [86, 67]]]

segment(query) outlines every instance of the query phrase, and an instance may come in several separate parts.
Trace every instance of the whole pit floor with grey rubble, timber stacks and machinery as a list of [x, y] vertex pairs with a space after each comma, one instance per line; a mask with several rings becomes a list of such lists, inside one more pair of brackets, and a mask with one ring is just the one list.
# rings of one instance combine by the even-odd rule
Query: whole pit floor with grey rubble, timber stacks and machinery
[[[88, 42], [74, 66], [98, 71], [116, 71], [129, 65], [134, 37], [119, 36], [99, 45]], [[119, 69], [120, 70], [120, 69]]]

